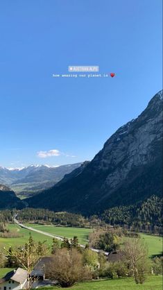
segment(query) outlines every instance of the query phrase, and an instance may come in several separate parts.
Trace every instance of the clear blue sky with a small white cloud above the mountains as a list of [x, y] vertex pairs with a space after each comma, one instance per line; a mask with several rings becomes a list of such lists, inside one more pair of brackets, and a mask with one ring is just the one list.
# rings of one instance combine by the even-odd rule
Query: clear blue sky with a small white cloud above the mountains
[[[2, 0], [0, 164], [91, 160], [162, 89], [162, 0]], [[98, 65], [114, 78], [53, 78]]]

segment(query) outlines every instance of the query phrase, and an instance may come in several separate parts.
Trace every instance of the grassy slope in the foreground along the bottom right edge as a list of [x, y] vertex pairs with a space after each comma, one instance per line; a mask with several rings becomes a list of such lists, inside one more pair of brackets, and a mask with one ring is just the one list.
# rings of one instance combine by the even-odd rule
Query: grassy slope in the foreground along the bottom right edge
[[[55, 290], [57, 287], [41, 288]], [[148, 277], [144, 284], [135, 284], [132, 278], [121, 278], [113, 280], [98, 280], [93, 282], [83, 282], [75, 284], [70, 288], [74, 290], [162, 290], [162, 276]]]

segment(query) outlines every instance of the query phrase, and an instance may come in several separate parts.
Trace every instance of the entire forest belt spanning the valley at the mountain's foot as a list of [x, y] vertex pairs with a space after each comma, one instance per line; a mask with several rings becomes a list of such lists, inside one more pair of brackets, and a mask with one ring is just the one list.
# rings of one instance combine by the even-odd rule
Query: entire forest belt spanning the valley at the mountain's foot
[[84, 217], [71, 212], [53, 212], [44, 209], [26, 208], [23, 210], [0, 211], [1, 222], [12, 222], [17, 212], [19, 221], [31, 223], [53, 223], [69, 227], [96, 228], [105, 225], [119, 225], [133, 232], [162, 234], [162, 198], [151, 196], [136, 205], [112, 207], [103, 214]]

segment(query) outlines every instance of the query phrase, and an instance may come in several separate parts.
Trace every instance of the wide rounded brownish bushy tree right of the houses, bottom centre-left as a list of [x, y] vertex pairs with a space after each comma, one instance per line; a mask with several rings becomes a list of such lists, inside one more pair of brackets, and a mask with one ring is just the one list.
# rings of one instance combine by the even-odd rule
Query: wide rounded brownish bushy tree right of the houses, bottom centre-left
[[60, 287], [71, 287], [77, 281], [92, 278], [89, 268], [83, 266], [82, 254], [75, 248], [57, 249], [53, 257], [54, 262], [49, 266], [47, 276], [58, 280]]

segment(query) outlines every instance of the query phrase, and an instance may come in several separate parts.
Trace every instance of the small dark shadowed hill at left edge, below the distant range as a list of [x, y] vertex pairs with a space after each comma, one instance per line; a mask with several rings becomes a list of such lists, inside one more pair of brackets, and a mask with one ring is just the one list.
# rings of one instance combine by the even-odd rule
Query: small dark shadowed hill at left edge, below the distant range
[[24, 207], [24, 204], [17, 198], [15, 192], [6, 185], [0, 185], [0, 210], [7, 208], [21, 209], [22, 207]]

